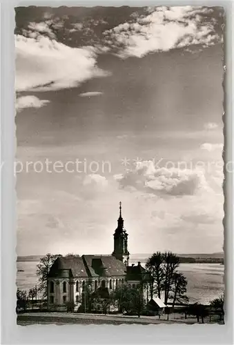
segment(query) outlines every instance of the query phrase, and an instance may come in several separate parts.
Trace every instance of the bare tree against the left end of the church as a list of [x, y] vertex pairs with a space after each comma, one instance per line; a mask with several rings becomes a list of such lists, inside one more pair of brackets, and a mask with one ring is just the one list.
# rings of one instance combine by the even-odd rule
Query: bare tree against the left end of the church
[[39, 277], [38, 290], [45, 298], [48, 296], [48, 274], [57, 257], [61, 257], [61, 255], [52, 255], [48, 253], [41, 258], [40, 264], [37, 265], [37, 276]]

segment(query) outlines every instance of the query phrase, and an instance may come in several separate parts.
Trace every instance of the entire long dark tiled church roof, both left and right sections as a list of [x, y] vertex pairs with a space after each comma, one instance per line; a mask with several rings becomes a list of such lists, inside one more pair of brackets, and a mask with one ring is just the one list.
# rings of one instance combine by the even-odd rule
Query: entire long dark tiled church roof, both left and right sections
[[126, 266], [112, 255], [58, 257], [49, 277], [112, 277], [126, 275]]

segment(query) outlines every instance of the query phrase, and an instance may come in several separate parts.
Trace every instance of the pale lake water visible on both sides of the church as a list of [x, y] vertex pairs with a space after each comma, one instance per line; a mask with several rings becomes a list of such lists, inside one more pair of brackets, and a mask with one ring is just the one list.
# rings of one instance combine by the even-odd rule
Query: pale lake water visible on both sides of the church
[[[29, 290], [37, 282], [38, 262], [17, 262], [17, 287]], [[188, 280], [187, 293], [191, 303], [208, 304], [211, 299], [224, 293], [224, 265], [220, 264], [180, 264], [179, 272]]]

